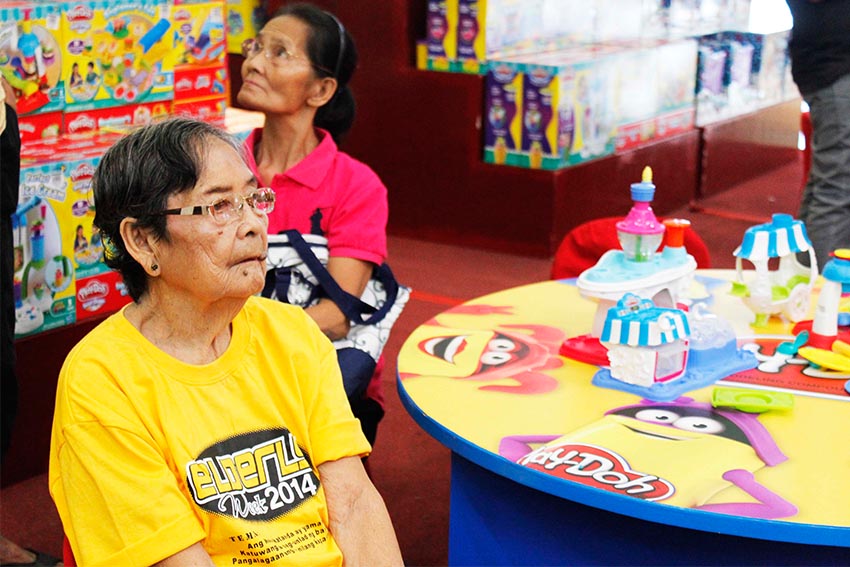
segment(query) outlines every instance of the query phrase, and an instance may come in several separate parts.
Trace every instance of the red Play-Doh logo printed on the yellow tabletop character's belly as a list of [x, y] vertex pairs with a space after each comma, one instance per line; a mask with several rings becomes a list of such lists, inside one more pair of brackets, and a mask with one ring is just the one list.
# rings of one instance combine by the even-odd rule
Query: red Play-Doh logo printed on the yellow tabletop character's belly
[[663, 478], [633, 471], [620, 455], [595, 445], [543, 446], [521, 458], [519, 464], [642, 500], [664, 500], [675, 492], [673, 485]]

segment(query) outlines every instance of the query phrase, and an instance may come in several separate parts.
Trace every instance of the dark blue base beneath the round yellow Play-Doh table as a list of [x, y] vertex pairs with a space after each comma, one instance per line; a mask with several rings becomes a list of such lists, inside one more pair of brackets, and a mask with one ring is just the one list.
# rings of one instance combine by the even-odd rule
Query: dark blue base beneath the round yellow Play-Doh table
[[716, 534], [545, 494], [452, 452], [449, 565], [850, 565], [850, 548]]

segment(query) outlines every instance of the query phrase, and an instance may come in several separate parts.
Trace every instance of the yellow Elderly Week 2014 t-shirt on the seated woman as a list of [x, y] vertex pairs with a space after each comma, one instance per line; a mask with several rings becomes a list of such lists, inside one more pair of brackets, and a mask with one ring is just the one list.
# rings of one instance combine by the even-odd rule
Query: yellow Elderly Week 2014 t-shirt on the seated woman
[[336, 352], [304, 311], [252, 297], [215, 362], [165, 354], [123, 312], [59, 377], [50, 492], [81, 565], [339, 565], [317, 466], [368, 454]]

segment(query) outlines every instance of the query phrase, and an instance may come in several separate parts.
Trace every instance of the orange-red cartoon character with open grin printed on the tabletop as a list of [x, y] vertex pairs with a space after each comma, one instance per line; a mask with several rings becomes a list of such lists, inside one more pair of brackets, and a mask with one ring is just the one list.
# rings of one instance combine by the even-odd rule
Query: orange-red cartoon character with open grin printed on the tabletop
[[[510, 315], [510, 307], [459, 305], [446, 312], [453, 315]], [[459, 329], [432, 319], [420, 329], [416, 368], [422, 372], [399, 372], [402, 380], [419, 376], [446, 376], [486, 382], [479, 390], [513, 394], [542, 394], [552, 391], [557, 381], [544, 370], [558, 368], [563, 361], [558, 348], [564, 332], [546, 325], [497, 325], [492, 330]], [[492, 384], [510, 379], [514, 384]]]

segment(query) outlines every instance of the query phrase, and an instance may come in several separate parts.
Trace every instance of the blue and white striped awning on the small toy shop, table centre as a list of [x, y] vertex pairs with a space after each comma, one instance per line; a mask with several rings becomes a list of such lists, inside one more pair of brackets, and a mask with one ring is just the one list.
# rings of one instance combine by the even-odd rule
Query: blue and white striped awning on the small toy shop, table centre
[[685, 339], [690, 335], [688, 319], [681, 309], [656, 307], [649, 299], [626, 294], [608, 310], [602, 342], [653, 347]]

